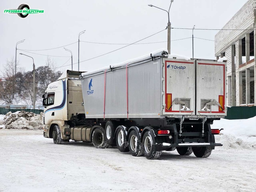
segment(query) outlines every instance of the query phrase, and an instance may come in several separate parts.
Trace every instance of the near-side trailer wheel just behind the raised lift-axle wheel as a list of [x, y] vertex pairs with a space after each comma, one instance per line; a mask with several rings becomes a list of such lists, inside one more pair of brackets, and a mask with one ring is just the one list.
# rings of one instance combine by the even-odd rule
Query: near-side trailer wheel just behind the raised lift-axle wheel
[[128, 152], [128, 142], [126, 140], [126, 132], [122, 126], [118, 126], [116, 131], [116, 146], [120, 152]]

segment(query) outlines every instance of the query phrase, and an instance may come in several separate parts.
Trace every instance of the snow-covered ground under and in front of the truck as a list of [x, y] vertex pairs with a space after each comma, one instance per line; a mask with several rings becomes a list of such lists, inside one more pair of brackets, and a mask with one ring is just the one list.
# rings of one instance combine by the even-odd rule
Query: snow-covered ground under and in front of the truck
[[133, 157], [91, 143], [55, 145], [42, 131], [0, 130], [0, 191], [255, 191], [256, 150], [218, 147], [208, 158]]

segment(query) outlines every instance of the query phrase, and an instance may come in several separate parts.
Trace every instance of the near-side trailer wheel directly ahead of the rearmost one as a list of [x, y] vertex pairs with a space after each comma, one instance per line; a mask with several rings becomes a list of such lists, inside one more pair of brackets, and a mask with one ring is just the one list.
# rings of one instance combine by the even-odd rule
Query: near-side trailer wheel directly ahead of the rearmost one
[[141, 145], [139, 136], [134, 130], [131, 131], [128, 142], [129, 142], [129, 150], [132, 156], [136, 156], [136, 157], [143, 156], [143, 150], [142, 150], [142, 145]]

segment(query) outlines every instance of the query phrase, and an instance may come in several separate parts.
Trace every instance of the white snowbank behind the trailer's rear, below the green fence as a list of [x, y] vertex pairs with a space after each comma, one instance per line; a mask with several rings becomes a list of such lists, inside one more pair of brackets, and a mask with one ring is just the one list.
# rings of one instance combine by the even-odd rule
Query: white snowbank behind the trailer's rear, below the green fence
[[249, 119], [214, 121], [212, 129], [221, 129], [220, 135], [215, 136], [216, 143], [224, 148], [256, 149], [256, 116]]

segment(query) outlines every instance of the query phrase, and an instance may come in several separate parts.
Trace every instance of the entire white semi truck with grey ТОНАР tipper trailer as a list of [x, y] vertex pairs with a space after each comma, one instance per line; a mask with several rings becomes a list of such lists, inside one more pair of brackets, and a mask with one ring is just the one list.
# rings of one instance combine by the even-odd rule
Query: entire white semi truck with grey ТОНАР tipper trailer
[[226, 62], [162, 49], [91, 72], [65, 71], [43, 95], [44, 137], [92, 142], [157, 159], [177, 150], [208, 157], [214, 120], [227, 114]]

